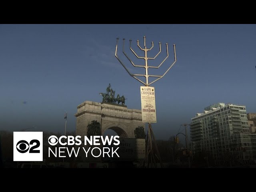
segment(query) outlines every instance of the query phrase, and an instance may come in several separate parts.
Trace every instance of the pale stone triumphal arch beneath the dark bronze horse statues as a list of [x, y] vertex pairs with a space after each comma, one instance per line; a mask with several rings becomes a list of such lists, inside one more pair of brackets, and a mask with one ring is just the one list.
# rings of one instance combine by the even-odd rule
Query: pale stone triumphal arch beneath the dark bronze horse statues
[[128, 109], [125, 105], [85, 101], [77, 107], [75, 116], [76, 135], [82, 137], [87, 134], [87, 126], [92, 120], [100, 123], [102, 135], [111, 129], [120, 138], [135, 138], [134, 130], [138, 126], [145, 129], [141, 110]]

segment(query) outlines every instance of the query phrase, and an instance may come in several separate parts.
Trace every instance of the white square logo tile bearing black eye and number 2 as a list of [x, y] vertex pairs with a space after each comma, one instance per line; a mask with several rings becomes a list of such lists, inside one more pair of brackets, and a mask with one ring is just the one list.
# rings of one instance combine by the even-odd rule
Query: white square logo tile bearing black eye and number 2
[[14, 161], [43, 161], [43, 132], [13, 132]]

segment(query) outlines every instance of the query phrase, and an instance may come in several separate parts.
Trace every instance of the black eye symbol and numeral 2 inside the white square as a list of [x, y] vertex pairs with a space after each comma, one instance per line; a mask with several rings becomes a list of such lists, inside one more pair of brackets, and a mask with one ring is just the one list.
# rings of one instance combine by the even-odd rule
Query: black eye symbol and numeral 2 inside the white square
[[[34, 143], [36, 143], [36, 145], [30, 147], [30, 145], [33, 145]], [[26, 153], [28, 152], [28, 150], [30, 153], [40, 153], [40, 150], [35, 150], [39, 146], [40, 146], [40, 142], [36, 139], [31, 140], [29, 144], [25, 140], [20, 140], [16, 145], [16, 149], [20, 153]]]

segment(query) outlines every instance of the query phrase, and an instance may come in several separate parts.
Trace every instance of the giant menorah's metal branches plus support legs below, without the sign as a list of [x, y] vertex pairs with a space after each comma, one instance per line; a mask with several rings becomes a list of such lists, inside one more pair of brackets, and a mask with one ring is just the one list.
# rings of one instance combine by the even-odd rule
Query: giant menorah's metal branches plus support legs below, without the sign
[[[126, 56], [126, 58], [131, 62], [131, 64], [134, 66], [134, 67], [144, 67], [145, 70], [146, 70], [146, 74], [132, 74], [129, 72], [129, 70], [126, 68], [126, 66], [123, 64], [123, 62], [120, 60], [120, 58], [118, 58], [117, 56], [117, 46], [118, 46], [118, 40], [119, 38], [116, 38], [116, 53], [115, 53], [115, 56], [116, 58], [118, 59], [118, 61], [122, 64], [122, 66], [125, 68], [125, 70], [128, 72], [128, 74], [130, 76], [132, 76], [133, 78], [135, 78], [136, 80], [138, 80], [139, 82], [141, 82], [142, 84], [144, 84], [145, 86], [149, 86], [150, 84], [156, 82], [157, 80], [159, 80], [160, 78], [164, 77], [164, 75], [170, 70], [170, 68], [172, 68], [172, 66], [174, 65], [174, 63], [176, 62], [176, 50], [175, 50], [175, 44], [173, 45], [174, 46], [174, 62], [172, 63], [172, 65], [168, 68], [168, 70], [166, 70], [166, 72], [163, 74], [163, 75], [150, 75], [148, 74], [148, 68], [159, 68], [164, 62], [165, 60], [168, 58], [169, 56], [169, 53], [168, 53], [168, 44], [166, 43], [166, 51], [167, 51], [167, 56], [166, 58], [160, 63], [159, 66], [148, 66], [148, 60], [154, 60], [161, 52], [161, 43], [159, 43], [159, 52], [158, 54], [156, 54], [156, 56], [154, 58], [149, 58], [148, 55], [147, 55], [147, 52], [150, 51], [153, 47], [154, 47], [154, 42], [152, 42], [152, 47], [150, 49], [147, 49], [146, 48], [146, 37], [144, 36], [144, 49], [142, 49], [139, 45], [139, 40], [137, 40], [137, 45], [138, 47], [140, 48], [140, 50], [143, 50], [145, 52], [145, 56], [144, 57], [139, 57], [135, 52], [134, 50], [132, 49], [132, 46], [131, 46], [131, 42], [132, 40], [130, 40], [130, 50], [134, 53], [134, 55], [138, 58], [138, 59], [144, 59], [145, 60], [145, 65], [141, 66], [141, 65], [135, 65], [132, 60], [127, 56], [127, 54], [124, 52], [124, 41], [125, 39], [123, 39], [123, 54]], [[143, 82], [142, 80], [140, 80], [139, 78], [137, 78], [136, 76], [144, 76], [146, 78], [146, 83]], [[148, 82], [148, 78], [149, 77], [156, 77], [157, 79], [152, 81], [151, 83]], [[156, 153], [154, 152], [154, 149], [153, 149], [153, 144], [155, 146], [155, 150], [156, 150]], [[159, 154], [159, 151], [158, 151], [158, 147], [156, 145], [156, 141], [155, 141], [155, 137], [154, 137], [154, 132], [152, 130], [152, 126], [151, 126], [151, 122], [148, 122], [148, 134], [147, 134], [147, 137], [146, 137], [146, 156], [145, 156], [145, 159], [143, 161], [143, 166], [145, 165], [145, 161], [146, 159], [148, 159], [148, 167], [149, 165], [151, 165], [152, 167], [152, 163], [154, 162], [154, 166], [156, 167], [156, 158], [159, 159], [160, 161], [160, 165], [162, 167], [162, 160], [160, 158], [160, 154]]]

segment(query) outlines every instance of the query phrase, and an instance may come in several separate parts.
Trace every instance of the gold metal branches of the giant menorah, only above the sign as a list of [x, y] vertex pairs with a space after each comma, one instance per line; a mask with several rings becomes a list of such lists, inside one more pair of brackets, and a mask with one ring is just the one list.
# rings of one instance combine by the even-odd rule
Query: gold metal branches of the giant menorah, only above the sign
[[[174, 62], [172, 63], [172, 65], [168, 68], [168, 70], [166, 70], [166, 72], [163, 74], [163, 75], [149, 75], [148, 74], [148, 68], [159, 68], [164, 62], [165, 60], [168, 58], [169, 56], [169, 53], [168, 53], [168, 44], [166, 43], [166, 51], [167, 51], [167, 56], [166, 58], [160, 63], [159, 66], [148, 66], [148, 60], [154, 60], [161, 52], [161, 43], [159, 43], [159, 52], [158, 54], [156, 54], [156, 56], [154, 58], [149, 58], [148, 57], [148, 54], [147, 52], [150, 51], [153, 47], [154, 47], [154, 42], [152, 42], [152, 47], [150, 49], [147, 49], [146, 48], [146, 37], [144, 36], [144, 49], [142, 49], [139, 45], [139, 40], [137, 40], [137, 45], [138, 47], [140, 48], [140, 50], [143, 50], [145, 52], [145, 57], [139, 57], [135, 52], [134, 50], [132, 50], [132, 47], [131, 47], [131, 42], [132, 40], [130, 40], [130, 50], [134, 53], [134, 55], [138, 58], [138, 59], [144, 59], [145, 60], [145, 66], [140, 66], [140, 65], [135, 65], [132, 60], [127, 56], [127, 54], [124, 52], [124, 40], [123, 39], [123, 53], [124, 55], [126, 56], [126, 58], [132, 63], [132, 65], [134, 67], [144, 67], [146, 69], [146, 74], [131, 74], [129, 72], [129, 70], [126, 68], [126, 66], [122, 63], [122, 61], [118, 58], [117, 56], [117, 46], [118, 46], [118, 38], [116, 38], [116, 58], [118, 59], [118, 61], [122, 64], [122, 66], [125, 68], [125, 70], [128, 72], [128, 74], [130, 74], [130, 76], [132, 76], [133, 78], [135, 78], [136, 80], [138, 80], [139, 82], [141, 82], [142, 84], [144, 84], [145, 86], [149, 86], [150, 84], [156, 82], [157, 80], [159, 80], [160, 78], [162, 78], [169, 70], [170, 68], [172, 68], [172, 66], [174, 65], [174, 63], [176, 62], [176, 51], [175, 51], [175, 44], [173, 45], [174, 47]], [[146, 77], [146, 83], [143, 82], [142, 80], [138, 79], [136, 76], [145, 76]], [[156, 80], [152, 81], [151, 83], [148, 83], [148, 77], [157, 77]]]

